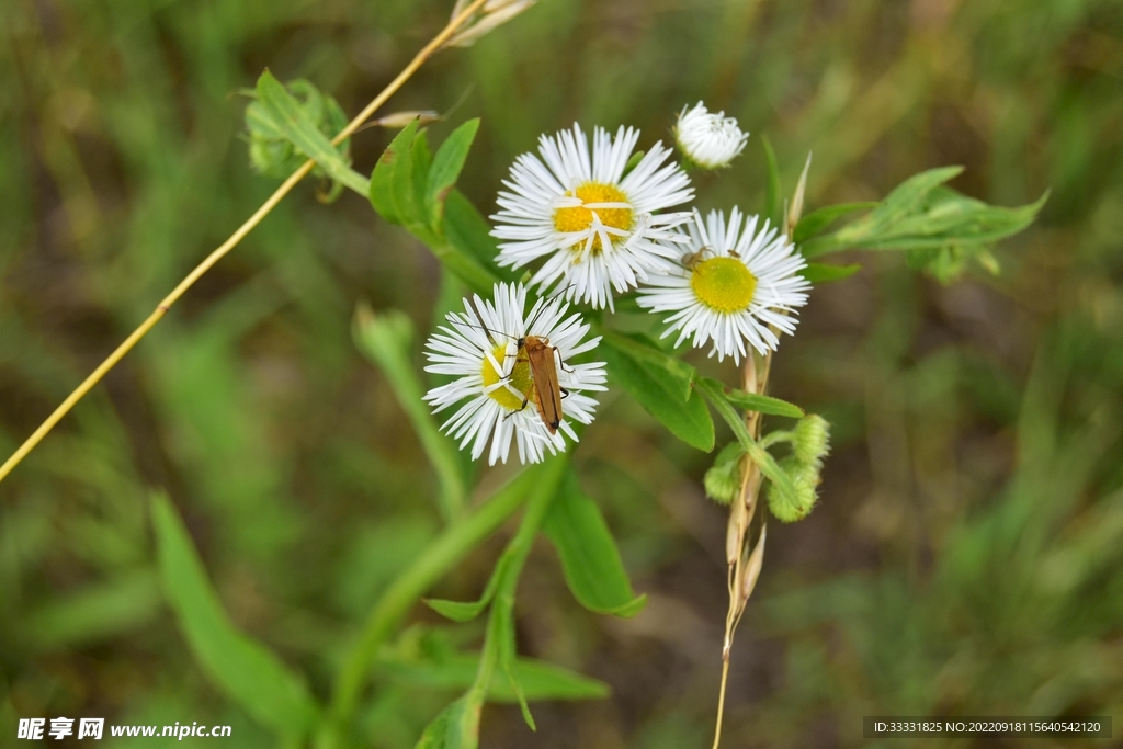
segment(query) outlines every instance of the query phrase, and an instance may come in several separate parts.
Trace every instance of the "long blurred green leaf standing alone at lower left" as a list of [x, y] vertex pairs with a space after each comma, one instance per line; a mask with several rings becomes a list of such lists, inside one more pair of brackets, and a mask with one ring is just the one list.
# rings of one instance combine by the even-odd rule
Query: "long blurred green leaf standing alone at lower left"
[[153, 496], [152, 515], [164, 594], [195, 660], [255, 720], [298, 741], [319, 718], [303, 678], [230, 622], [165, 495]]

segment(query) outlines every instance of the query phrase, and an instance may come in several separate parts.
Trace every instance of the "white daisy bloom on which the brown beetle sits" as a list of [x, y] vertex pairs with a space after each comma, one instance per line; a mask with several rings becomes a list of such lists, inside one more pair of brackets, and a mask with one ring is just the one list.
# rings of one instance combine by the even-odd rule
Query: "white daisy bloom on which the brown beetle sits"
[[[475, 307], [465, 299], [464, 312], [450, 312], [447, 320], [426, 344], [430, 365], [426, 372], [457, 376], [458, 380], [430, 390], [424, 400], [435, 412], [469, 399], [441, 427], [460, 449], [472, 444], [472, 459], [484, 453], [489, 439], [490, 465], [506, 463], [514, 439], [520, 463], [539, 463], [546, 451], [565, 451], [565, 439], [577, 435], [568, 420], [590, 423], [596, 401], [583, 391], [605, 390], [604, 363], [569, 364], [567, 360], [591, 350], [600, 337], [582, 341], [588, 325], [581, 317], [564, 318], [569, 305], [559, 298], [539, 299], [529, 314], [523, 314], [527, 287], [521, 284], [496, 284], [495, 301], [474, 296]], [[526, 348], [520, 342], [536, 336], [556, 350], [554, 356], [562, 401], [563, 418], [556, 429], [545, 423], [539, 413], [533, 373]], [[566, 393], [568, 393], [566, 395]]]

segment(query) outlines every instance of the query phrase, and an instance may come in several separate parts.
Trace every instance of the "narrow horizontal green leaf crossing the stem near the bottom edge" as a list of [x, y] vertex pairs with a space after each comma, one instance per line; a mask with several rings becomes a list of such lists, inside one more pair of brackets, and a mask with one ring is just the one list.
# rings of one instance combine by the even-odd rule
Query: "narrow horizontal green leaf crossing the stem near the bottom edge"
[[[433, 689], [464, 689], [472, 685], [480, 654], [455, 654], [436, 659], [383, 658], [377, 668], [390, 681]], [[544, 700], [601, 700], [609, 696], [604, 682], [535, 658], [518, 658], [513, 673], [531, 702]], [[506, 679], [492, 679], [489, 702], [513, 704], [518, 696]]]

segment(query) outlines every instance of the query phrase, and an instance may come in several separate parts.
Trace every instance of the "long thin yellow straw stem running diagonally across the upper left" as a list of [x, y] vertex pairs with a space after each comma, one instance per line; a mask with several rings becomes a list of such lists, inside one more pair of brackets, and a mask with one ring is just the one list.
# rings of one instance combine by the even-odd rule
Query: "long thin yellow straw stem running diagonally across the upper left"
[[[347, 127], [345, 127], [339, 135], [331, 139], [332, 145], [338, 145], [346, 140], [363, 125], [363, 122], [368, 120], [380, 107], [386, 103], [386, 100], [394, 95], [394, 93], [402, 88], [408, 80], [410, 80], [413, 73], [416, 73], [435, 52], [437, 52], [446, 42], [448, 42], [449, 38], [451, 38], [458, 28], [483, 7], [484, 2], [486, 2], [486, 0], [475, 0], [472, 4], [466, 7], [463, 12], [456, 16], [456, 18], [450, 20], [448, 26], [441, 29], [440, 34], [435, 36], [432, 40], [421, 49], [421, 52], [414, 55], [413, 60], [410, 61], [410, 64], [398, 74], [398, 77], [391, 81], [390, 85], [382, 90], [382, 93], [375, 97], [363, 111], [355, 116], [355, 119], [347, 124]], [[270, 211], [276, 208], [276, 204], [280, 203], [294, 186], [296, 186], [298, 182], [308, 176], [308, 173], [312, 171], [313, 166], [316, 166], [316, 162], [311, 159], [304, 162], [304, 165], [293, 172], [287, 180], [282, 182], [281, 186], [277, 188], [272, 195], [270, 195], [268, 200], [266, 200], [261, 208], [254, 211], [254, 214], [246, 219], [246, 222], [238, 227], [237, 231], [230, 235], [229, 239], [223, 241], [221, 246], [208, 255], [202, 263], [197, 265], [195, 268], [189, 273], [175, 289], [172, 290], [172, 293], [165, 296], [163, 301], [156, 305], [156, 309], [153, 310], [152, 314], [149, 314], [144, 322], [140, 323], [140, 327], [134, 330], [133, 334], [126, 338], [125, 341], [118, 346], [104, 362], [98, 365], [98, 368], [91, 372], [90, 376], [83, 380], [82, 384], [74, 389], [74, 392], [66, 396], [66, 400], [54, 410], [54, 413], [47, 417], [47, 420], [39, 424], [39, 428], [36, 429], [35, 432], [19, 446], [19, 449], [16, 450], [2, 466], [0, 466], [0, 482], [2, 482], [17, 465], [19, 465], [20, 460], [27, 457], [28, 453], [35, 449], [35, 446], [38, 445], [39, 441], [42, 441], [43, 438], [55, 428], [55, 424], [62, 421], [62, 418], [66, 415], [72, 408], [74, 408], [75, 403], [81, 401], [94, 385], [101, 382], [101, 378], [106, 376], [107, 372], [112, 369], [118, 362], [125, 358], [126, 354], [133, 350], [133, 347], [137, 345], [137, 341], [144, 338], [148, 331], [152, 330], [157, 322], [159, 322], [161, 318], [167, 313], [172, 305], [179, 301], [180, 296], [182, 296], [188, 289], [194, 285], [194, 283], [199, 281], [204, 273], [210, 271], [216, 263], [234, 249], [238, 243], [240, 243], [246, 235], [254, 229], [254, 227], [261, 223], [262, 219], [268, 216]]]

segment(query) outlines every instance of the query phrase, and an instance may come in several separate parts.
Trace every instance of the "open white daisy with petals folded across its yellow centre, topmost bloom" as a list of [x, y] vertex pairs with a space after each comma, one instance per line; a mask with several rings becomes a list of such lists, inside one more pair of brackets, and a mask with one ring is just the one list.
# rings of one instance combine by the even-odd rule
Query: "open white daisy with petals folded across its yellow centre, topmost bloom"
[[690, 213], [656, 213], [694, 197], [690, 179], [655, 144], [624, 175], [639, 131], [621, 127], [615, 138], [593, 131], [593, 149], [581, 126], [539, 139], [538, 156], [522, 154], [511, 166], [510, 191], [499, 193], [492, 236], [499, 264], [522, 267], [546, 258], [530, 283], [556, 283], [566, 299], [612, 309], [612, 290], [626, 292], [649, 273], [674, 267], [683, 236], [672, 227]]

